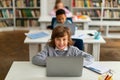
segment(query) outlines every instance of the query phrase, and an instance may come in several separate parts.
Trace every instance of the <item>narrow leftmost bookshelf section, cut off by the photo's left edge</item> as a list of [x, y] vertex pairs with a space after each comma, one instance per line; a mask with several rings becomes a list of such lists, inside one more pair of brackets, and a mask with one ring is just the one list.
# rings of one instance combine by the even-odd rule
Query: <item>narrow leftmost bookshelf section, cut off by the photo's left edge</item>
[[0, 28], [14, 26], [14, 10], [12, 0], [0, 0]]

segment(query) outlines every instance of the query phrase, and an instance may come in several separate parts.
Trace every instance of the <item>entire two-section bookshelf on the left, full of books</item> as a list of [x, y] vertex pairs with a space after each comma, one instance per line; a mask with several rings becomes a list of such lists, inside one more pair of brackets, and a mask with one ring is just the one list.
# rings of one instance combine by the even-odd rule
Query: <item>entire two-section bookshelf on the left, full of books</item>
[[41, 0], [0, 0], [0, 29], [39, 27]]

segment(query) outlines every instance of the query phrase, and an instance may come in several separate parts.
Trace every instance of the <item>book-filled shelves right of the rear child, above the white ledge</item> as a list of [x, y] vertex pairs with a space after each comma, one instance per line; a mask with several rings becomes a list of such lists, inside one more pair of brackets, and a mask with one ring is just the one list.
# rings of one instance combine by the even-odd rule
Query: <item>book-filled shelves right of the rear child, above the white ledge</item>
[[71, 0], [75, 15], [88, 15], [93, 21], [119, 21], [120, 0]]

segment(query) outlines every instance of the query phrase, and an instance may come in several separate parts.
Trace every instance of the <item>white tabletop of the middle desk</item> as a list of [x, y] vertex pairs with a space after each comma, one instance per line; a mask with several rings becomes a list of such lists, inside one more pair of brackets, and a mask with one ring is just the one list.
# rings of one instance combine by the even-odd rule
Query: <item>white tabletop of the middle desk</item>
[[[51, 30], [31, 30], [29, 33], [35, 33], [35, 32], [45, 32], [50, 34], [47, 37], [43, 37], [43, 38], [38, 38], [38, 39], [30, 39], [28, 37], [25, 38], [24, 43], [46, 43], [49, 41], [50, 36], [51, 36]], [[75, 32], [75, 35], [80, 35], [80, 34], [84, 34], [87, 35], [88, 33], [95, 33], [96, 30], [77, 30]], [[102, 36], [100, 36], [100, 39], [96, 40], [93, 37], [87, 37], [87, 38], [83, 38], [83, 42], [84, 43], [105, 43], [105, 40], [103, 39]]]

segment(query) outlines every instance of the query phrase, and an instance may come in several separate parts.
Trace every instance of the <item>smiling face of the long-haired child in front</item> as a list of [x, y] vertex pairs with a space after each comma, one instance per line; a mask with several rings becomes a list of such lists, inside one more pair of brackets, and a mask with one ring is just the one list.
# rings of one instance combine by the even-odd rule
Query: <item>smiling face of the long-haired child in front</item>
[[68, 46], [68, 35], [64, 37], [55, 38], [55, 45], [58, 49], [64, 50]]

